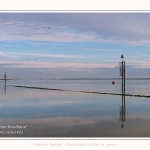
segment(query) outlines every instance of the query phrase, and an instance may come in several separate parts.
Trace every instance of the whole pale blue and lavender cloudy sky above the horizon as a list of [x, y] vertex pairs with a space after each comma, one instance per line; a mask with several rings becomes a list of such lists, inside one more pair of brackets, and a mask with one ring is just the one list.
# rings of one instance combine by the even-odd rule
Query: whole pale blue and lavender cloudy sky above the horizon
[[150, 13], [0, 13], [0, 78], [150, 77]]

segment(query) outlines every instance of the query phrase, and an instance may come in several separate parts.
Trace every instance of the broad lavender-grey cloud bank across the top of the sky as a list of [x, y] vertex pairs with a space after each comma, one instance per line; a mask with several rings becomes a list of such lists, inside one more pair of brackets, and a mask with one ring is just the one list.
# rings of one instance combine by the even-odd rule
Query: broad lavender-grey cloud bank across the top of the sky
[[0, 13], [0, 18], [0, 40], [150, 43], [150, 13]]

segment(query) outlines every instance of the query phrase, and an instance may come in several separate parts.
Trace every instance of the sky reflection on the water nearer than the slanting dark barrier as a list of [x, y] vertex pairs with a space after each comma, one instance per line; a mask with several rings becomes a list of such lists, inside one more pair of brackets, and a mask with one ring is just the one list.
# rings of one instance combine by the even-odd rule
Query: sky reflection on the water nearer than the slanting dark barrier
[[[150, 99], [0, 85], [0, 127], [27, 125], [0, 137], [149, 137]], [[16, 129], [12, 129], [16, 130]], [[2, 131], [2, 128], [0, 128]], [[7, 131], [7, 129], [5, 129]]]

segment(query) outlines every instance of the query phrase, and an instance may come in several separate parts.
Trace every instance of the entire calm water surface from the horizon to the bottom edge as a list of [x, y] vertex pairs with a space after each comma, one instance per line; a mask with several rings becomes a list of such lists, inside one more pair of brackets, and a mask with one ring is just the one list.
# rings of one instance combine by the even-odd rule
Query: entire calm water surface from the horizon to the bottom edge
[[[20, 88], [121, 93], [111, 80], [0, 82], [0, 137], [150, 137], [150, 98]], [[127, 94], [150, 95], [149, 80], [127, 80]]]

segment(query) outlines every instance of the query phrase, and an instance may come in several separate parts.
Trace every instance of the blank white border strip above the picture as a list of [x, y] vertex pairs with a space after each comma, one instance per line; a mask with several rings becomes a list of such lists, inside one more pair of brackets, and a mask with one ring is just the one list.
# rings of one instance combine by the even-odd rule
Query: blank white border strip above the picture
[[149, 11], [149, 0], [0, 0], [1, 11]]

